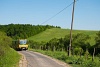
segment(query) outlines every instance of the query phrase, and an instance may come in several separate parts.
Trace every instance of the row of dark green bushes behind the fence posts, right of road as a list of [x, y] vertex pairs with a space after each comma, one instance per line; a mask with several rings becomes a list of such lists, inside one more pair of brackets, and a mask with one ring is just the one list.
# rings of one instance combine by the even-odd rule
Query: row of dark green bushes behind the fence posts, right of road
[[[72, 55], [92, 55], [95, 50], [95, 55], [100, 54], [100, 31], [96, 34], [95, 44], [90, 45], [91, 37], [84, 33], [74, 34], [72, 38]], [[30, 47], [33, 49], [50, 50], [50, 51], [66, 51], [68, 52], [70, 36], [66, 35], [64, 38], [53, 38], [49, 42], [35, 42], [30, 40]]]

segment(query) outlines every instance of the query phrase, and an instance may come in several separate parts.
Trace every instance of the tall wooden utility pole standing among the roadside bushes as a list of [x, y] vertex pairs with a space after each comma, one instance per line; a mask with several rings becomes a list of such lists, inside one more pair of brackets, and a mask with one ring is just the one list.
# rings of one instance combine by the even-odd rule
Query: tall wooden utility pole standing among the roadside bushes
[[76, 0], [74, 0], [74, 3], [73, 3], [72, 21], [71, 21], [71, 30], [70, 30], [70, 44], [69, 44], [68, 56], [71, 56], [71, 49], [72, 49], [72, 29], [73, 29], [73, 21], [74, 21], [75, 2], [76, 2]]

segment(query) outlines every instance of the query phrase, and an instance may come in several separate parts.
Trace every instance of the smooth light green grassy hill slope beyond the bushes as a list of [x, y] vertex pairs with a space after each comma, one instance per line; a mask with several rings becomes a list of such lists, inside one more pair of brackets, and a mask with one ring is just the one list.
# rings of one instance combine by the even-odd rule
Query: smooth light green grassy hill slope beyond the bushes
[[[98, 31], [89, 31], [89, 30], [73, 30], [72, 31], [73, 34], [85, 33], [89, 35], [91, 37], [90, 39], [91, 45], [95, 43], [94, 39], [97, 32]], [[28, 40], [33, 40], [36, 42], [41, 42], [41, 41], [48, 42], [49, 40], [53, 38], [63, 38], [65, 37], [65, 35], [68, 35], [68, 34], [70, 34], [69, 29], [52, 28], [52, 29], [47, 29], [46, 31], [39, 33], [35, 36], [29, 37]]]

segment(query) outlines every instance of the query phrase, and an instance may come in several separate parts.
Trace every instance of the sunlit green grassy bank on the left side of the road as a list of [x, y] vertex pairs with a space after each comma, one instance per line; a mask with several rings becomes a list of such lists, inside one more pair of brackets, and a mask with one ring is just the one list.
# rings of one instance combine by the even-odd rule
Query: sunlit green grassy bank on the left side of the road
[[0, 32], [0, 67], [18, 67], [20, 55], [10, 48], [12, 38]]

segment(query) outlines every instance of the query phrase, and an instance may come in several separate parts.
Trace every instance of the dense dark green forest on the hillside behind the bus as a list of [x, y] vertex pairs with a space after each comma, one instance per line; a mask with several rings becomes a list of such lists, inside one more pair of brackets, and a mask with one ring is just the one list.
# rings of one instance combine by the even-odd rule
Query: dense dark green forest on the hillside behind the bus
[[60, 28], [50, 25], [31, 25], [31, 24], [8, 24], [0, 25], [0, 31], [3, 31], [13, 39], [28, 38], [50, 28]]

